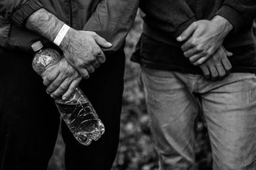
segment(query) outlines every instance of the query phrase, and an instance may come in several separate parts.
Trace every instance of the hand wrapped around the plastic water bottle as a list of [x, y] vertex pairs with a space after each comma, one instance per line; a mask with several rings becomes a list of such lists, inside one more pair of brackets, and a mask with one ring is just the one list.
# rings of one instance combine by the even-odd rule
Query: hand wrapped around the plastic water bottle
[[46, 92], [55, 98], [62, 96], [68, 99], [82, 80], [81, 75], [74, 69], [67, 59], [62, 58], [56, 66], [43, 78], [43, 84], [48, 86]]

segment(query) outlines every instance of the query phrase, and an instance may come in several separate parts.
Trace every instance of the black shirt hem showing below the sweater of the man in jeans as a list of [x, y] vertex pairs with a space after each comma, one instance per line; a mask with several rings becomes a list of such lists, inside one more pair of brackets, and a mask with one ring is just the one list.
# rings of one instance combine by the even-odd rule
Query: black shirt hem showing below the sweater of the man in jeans
[[[229, 57], [232, 64], [232, 73], [256, 73], [255, 45], [245, 45], [227, 50], [233, 53], [233, 56]], [[157, 70], [202, 74], [198, 66], [192, 65], [188, 58], [183, 56], [179, 47], [152, 39], [145, 34], [142, 34], [136, 46], [132, 61]]]

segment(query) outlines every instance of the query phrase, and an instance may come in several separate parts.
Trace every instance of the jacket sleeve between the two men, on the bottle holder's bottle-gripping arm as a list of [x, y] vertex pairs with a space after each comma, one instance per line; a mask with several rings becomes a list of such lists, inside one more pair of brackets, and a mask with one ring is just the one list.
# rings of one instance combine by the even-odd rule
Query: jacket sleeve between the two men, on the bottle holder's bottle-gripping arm
[[83, 27], [104, 37], [113, 46], [104, 52], [118, 51], [125, 42], [139, 6], [139, 0], [102, 0]]

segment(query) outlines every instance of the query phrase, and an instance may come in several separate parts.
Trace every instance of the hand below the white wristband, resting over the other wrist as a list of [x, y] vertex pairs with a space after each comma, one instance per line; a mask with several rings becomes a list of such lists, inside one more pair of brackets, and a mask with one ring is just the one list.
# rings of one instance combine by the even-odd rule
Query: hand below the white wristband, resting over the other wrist
[[111, 43], [95, 32], [70, 29], [61, 42], [60, 48], [71, 65], [83, 76], [88, 78], [95, 68], [105, 62], [101, 48], [110, 48]]

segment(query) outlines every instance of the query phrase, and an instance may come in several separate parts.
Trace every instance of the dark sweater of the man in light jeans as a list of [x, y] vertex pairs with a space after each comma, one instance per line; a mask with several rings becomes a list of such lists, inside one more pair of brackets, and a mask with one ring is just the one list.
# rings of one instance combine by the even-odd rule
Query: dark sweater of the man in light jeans
[[224, 41], [226, 48], [254, 44], [252, 24], [255, 0], [141, 0], [145, 21], [143, 33], [161, 42], [179, 46], [176, 37], [197, 20], [221, 15], [233, 24]]

